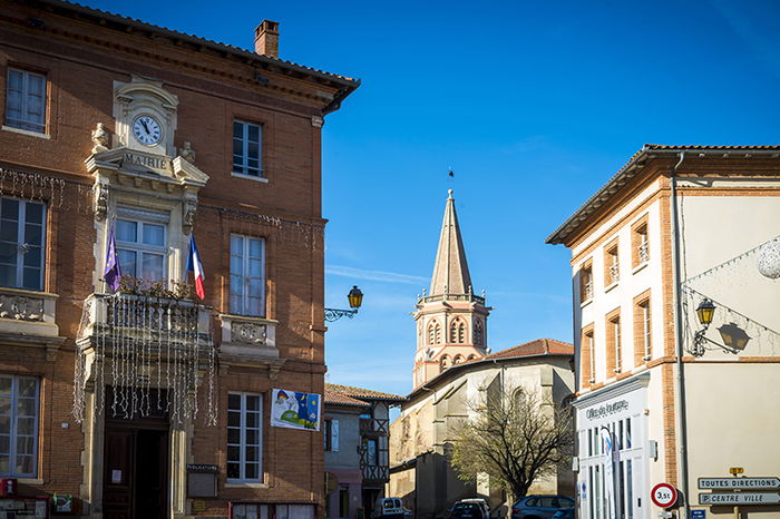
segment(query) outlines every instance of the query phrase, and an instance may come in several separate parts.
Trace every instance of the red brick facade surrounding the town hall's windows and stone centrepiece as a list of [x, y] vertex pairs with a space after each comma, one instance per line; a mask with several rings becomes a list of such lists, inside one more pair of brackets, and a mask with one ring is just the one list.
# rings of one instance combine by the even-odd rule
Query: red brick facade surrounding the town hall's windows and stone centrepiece
[[[0, 192], [47, 205], [42, 290], [57, 296], [59, 326], [58, 335], [49, 339], [0, 333], [0, 373], [40, 380], [37, 476], [22, 478], [19, 493], [70, 493], [76, 510], [100, 512], [95, 494], [88, 502], [85, 490], [87, 433], [71, 414], [76, 337], [85, 300], [99, 290], [95, 281], [103, 272], [95, 271], [105, 243], [98, 236], [101, 224], [96, 224], [95, 177], [85, 159], [92, 154], [90, 135], [97, 123], [109, 134], [117, 131], [116, 85], [138, 76], [162, 81], [178, 98], [175, 149], [192, 143], [197, 168], [209, 177], [197, 193], [193, 229], [206, 271], [203, 304], [212, 307], [215, 347], [221, 343], [218, 316], [230, 313], [231, 234], [262, 237], [265, 317], [276, 322], [275, 345], [284, 361], [280, 368], [217, 356], [217, 425], [196, 420], [185, 452], [187, 463], [218, 467], [218, 498], [197, 503], [185, 499], [165, 517], [227, 516], [228, 501], [312, 503], [321, 509], [321, 433], [270, 427], [269, 411], [273, 388], [323, 394], [320, 134], [322, 117], [338, 109], [359, 82], [53, 0], [0, 7], [2, 121], [8, 119], [9, 68], [46, 76], [46, 131], [0, 130], [0, 167], [7, 172]], [[231, 174], [234, 119], [262, 125], [267, 182]], [[186, 251], [177, 253], [186, 257]], [[263, 399], [259, 484], [226, 484], [232, 391]], [[205, 409], [204, 393], [198, 394]]]

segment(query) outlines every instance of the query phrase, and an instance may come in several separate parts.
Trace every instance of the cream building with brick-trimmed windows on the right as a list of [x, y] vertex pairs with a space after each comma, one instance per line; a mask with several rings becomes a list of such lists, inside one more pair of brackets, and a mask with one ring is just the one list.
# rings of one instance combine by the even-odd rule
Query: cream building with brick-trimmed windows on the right
[[[659, 517], [661, 482], [677, 517], [731, 515], [710, 505], [748, 498], [700, 479], [779, 476], [778, 157], [646, 145], [547, 238], [572, 249], [578, 517]], [[770, 490], [751, 491], [741, 517], [780, 518]]]

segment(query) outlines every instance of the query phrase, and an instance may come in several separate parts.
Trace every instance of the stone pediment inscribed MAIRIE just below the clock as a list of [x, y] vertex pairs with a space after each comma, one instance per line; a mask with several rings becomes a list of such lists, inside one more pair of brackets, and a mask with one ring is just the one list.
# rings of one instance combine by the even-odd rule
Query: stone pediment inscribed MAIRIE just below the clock
[[115, 172], [119, 177], [157, 180], [162, 183], [203, 187], [208, 175], [182, 157], [170, 159], [165, 155], [150, 154], [119, 147], [92, 154], [86, 160], [89, 173]]

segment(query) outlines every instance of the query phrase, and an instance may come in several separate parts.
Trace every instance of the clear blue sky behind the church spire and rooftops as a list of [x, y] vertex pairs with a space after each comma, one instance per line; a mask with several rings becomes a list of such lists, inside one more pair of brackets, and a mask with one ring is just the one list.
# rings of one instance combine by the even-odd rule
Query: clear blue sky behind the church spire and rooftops
[[[358, 77], [323, 129], [328, 380], [411, 390], [410, 311], [455, 189], [489, 345], [572, 339], [569, 254], [544, 238], [644, 143], [778, 144], [780, 3], [116, 2], [106, 9]], [[455, 178], [447, 175], [455, 170]]]

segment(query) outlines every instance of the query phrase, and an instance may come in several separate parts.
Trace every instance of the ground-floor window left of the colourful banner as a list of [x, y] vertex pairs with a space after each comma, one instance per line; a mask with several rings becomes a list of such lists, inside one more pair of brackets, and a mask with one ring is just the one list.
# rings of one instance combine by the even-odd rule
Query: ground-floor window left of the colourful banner
[[261, 481], [263, 402], [260, 394], [227, 395], [227, 479]]

